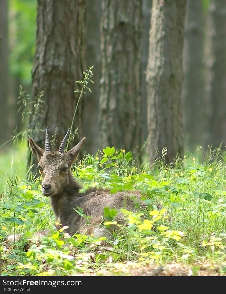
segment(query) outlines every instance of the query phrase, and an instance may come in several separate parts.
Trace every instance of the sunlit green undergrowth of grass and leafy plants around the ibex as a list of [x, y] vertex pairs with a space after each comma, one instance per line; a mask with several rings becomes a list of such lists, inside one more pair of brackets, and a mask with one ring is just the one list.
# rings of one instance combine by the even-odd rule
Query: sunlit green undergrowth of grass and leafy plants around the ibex
[[[140, 168], [131, 152], [103, 149], [100, 155], [87, 155], [74, 166], [83, 190], [90, 187], [110, 189], [111, 193], [140, 191], [147, 204], [145, 211], [122, 210], [126, 222], [119, 225], [117, 212], [106, 208], [103, 225], [116, 225], [113, 241], [103, 237], [64, 234], [56, 230], [49, 199], [40, 192], [40, 178], [21, 180], [15, 173], [1, 184], [1, 259], [3, 275], [77, 275], [116, 272], [116, 264], [165, 265], [171, 261], [193, 264], [210, 260], [225, 272], [226, 240], [226, 161], [225, 153], [209, 151], [203, 164], [185, 156], [175, 169], [160, 165]], [[130, 192], [131, 191], [131, 192]], [[160, 206], [160, 205], [161, 206]], [[83, 215], [81, 208], [75, 208]], [[89, 218], [86, 222], [89, 222]], [[121, 226], [121, 227], [120, 227]], [[26, 246], [34, 233], [51, 232]], [[20, 234], [10, 243], [4, 238]], [[101, 248], [101, 241], [108, 246]], [[110, 249], [109, 249], [110, 248]], [[197, 271], [197, 265], [194, 266]]]

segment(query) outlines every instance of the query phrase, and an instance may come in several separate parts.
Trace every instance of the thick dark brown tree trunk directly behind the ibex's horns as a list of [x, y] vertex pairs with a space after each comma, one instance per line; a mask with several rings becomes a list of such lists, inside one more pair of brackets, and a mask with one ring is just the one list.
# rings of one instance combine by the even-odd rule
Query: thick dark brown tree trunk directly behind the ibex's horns
[[[56, 147], [71, 126], [79, 93], [74, 93], [83, 79], [86, 49], [86, 0], [53, 1], [38, 0], [36, 53], [32, 71], [32, 97], [35, 99], [43, 91], [45, 102], [40, 117], [35, 124], [50, 136], [57, 127]], [[82, 136], [82, 109], [80, 101], [73, 127], [78, 128], [76, 141]], [[30, 127], [32, 126], [30, 119]], [[32, 137], [44, 146], [44, 133]], [[29, 158], [30, 162], [30, 158]]]

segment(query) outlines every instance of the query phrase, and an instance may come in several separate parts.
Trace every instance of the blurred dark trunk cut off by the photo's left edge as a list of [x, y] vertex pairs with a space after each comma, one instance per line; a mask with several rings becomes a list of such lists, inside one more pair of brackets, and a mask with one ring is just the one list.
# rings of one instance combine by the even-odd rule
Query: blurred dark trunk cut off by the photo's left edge
[[8, 137], [8, 1], [0, 1], [0, 146], [5, 143]]

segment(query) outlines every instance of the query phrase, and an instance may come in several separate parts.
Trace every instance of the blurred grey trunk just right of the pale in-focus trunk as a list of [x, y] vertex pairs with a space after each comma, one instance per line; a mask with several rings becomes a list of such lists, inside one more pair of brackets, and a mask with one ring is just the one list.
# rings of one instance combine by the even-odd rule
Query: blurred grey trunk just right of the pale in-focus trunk
[[204, 24], [202, 1], [188, 0], [182, 98], [185, 144], [193, 151], [198, 145], [204, 147], [207, 131], [204, 107]]

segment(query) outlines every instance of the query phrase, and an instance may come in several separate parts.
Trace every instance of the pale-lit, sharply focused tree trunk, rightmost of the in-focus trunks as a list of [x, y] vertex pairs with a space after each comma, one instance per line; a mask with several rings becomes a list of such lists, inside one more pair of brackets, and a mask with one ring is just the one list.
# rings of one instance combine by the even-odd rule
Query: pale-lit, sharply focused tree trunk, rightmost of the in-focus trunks
[[[147, 67], [149, 158], [183, 157], [181, 88], [186, 0], [153, 0]], [[156, 151], [160, 154], [156, 154]]]

